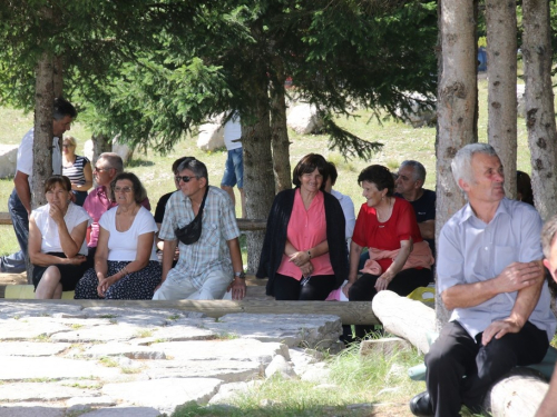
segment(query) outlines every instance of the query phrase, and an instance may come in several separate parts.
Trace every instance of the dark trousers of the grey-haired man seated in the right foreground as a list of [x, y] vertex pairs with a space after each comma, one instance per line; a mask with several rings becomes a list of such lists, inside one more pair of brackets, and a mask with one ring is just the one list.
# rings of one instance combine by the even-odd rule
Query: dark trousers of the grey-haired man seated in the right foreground
[[519, 332], [492, 338], [486, 346], [481, 336], [473, 339], [458, 321], [448, 322], [426, 355], [426, 381], [437, 417], [460, 416], [462, 404], [480, 413], [491, 385], [515, 366], [541, 361], [549, 346], [547, 332], [529, 321]]

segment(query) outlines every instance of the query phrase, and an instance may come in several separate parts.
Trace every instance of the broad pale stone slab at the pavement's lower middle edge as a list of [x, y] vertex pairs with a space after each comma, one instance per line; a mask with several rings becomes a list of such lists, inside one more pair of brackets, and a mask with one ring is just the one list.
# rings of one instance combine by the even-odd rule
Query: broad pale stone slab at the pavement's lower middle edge
[[[166, 378], [139, 383], [107, 384], [102, 393], [136, 406], [153, 407], [170, 414], [188, 401], [205, 404], [223, 384], [216, 378]], [[121, 414], [124, 416], [125, 414]]]

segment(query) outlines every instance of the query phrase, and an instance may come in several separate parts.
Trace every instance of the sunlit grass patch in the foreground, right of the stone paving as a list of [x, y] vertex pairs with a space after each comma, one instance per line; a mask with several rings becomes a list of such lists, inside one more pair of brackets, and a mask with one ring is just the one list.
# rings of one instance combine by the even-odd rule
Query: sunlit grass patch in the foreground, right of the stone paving
[[[385, 358], [381, 354], [360, 357], [358, 348], [353, 346], [330, 358], [331, 376], [325, 386], [273, 377], [240, 394], [232, 407], [187, 404], [176, 409], [173, 417], [369, 416], [374, 404], [405, 403], [424, 389], [423, 383], [411, 381], [405, 371], [422, 361], [416, 350]], [[364, 406], [348, 408], [352, 405]]]

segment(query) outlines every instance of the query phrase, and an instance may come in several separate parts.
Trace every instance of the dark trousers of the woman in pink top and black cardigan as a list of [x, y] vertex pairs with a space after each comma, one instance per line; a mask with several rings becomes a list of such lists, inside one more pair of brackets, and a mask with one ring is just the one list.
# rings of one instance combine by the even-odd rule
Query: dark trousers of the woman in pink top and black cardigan
[[335, 289], [336, 278], [334, 275], [316, 275], [311, 277], [304, 286], [301, 282], [292, 277], [275, 274], [275, 299], [282, 301], [323, 301]]

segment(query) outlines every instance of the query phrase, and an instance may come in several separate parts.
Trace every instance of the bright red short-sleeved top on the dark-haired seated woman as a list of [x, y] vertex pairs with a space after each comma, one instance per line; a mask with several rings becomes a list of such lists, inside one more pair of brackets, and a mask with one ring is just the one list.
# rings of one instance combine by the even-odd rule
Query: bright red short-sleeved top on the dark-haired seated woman
[[[413, 242], [422, 241], [416, 214], [407, 200], [394, 198], [392, 214], [385, 222], [379, 222], [375, 209], [363, 203], [355, 220], [352, 240], [364, 248], [375, 248], [381, 250], [400, 249], [401, 240], [412, 238]], [[391, 259], [378, 259], [378, 264], [387, 270], [392, 264]]]

